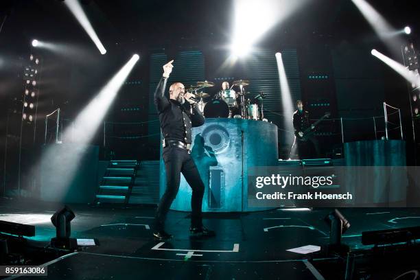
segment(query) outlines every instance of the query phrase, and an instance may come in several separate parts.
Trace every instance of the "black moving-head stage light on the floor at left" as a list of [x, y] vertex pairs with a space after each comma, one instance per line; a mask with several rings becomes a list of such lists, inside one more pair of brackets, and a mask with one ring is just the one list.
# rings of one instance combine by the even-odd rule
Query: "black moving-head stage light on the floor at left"
[[75, 218], [75, 214], [67, 205], [54, 213], [51, 222], [56, 227], [56, 237], [51, 239], [51, 247], [71, 249], [77, 247], [75, 239], [70, 238], [70, 222]]

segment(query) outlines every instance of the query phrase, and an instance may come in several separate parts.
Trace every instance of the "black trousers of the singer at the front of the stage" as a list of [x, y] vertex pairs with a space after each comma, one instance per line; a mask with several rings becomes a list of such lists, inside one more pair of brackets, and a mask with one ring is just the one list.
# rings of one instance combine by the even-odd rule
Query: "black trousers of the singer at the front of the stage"
[[205, 185], [202, 183], [200, 174], [198, 173], [196, 163], [191, 158], [191, 154], [183, 148], [166, 147], [163, 149], [163, 161], [165, 161], [166, 170], [166, 190], [159, 202], [155, 216], [156, 230], [160, 231], [165, 228], [165, 220], [172, 201], [178, 194], [180, 183], [180, 172], [183, 172], [185, 180], [192, 189], [191, 197], [191, 226], [202, 226], [202, 197], [205, 192]]

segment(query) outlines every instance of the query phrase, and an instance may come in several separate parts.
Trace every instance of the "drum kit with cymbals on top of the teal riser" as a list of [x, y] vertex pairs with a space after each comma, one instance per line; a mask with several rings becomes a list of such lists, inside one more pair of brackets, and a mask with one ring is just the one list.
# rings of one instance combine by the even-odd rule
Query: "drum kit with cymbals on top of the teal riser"
[[[210, 97], [209, 93], [205, 93], [205, 89], [214, 86], [213, 82], [197, 82], [187, 88], [187, 92], [195, 95], [198, 108], [205, 117], [216, 118], [235, 118], [235, 119], [254, 119], [264, 120], [262, 112], [262, 100], [265, 98], [264, 93], [250, 98], [251, 93], [245, 91], [245, 86], [249, 85], [248, 80], [233, 81], [231, 89], [224, 89], [216, 94], [209, 102], [205, 102], [205, 98]], [[239, 91], [233, 90], [237, 87]], [[259, 101], [259, 102], [258, 102]]]

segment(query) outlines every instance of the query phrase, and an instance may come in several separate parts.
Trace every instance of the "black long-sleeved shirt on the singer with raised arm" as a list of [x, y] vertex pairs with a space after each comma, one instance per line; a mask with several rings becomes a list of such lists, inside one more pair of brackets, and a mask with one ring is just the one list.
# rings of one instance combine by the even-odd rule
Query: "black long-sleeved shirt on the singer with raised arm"
[[154, 104], [159, 113], [163, 137], [167, 140], [178, 140], [191, 144], [191, 127], [202, 126], [204, 117], [197, 104], [184, 104], [165, 97], [167, 78], [161, 78], [154, 91]]

